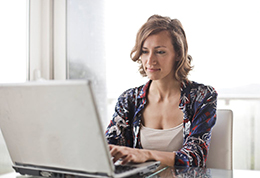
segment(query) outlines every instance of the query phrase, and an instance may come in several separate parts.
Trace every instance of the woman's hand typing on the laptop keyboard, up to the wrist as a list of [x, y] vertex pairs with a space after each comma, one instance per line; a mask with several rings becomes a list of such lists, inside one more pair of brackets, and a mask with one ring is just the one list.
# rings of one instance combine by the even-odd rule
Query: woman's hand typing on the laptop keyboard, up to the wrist
[[121, 164], [126, 164], [128, 162], [143, 163], [150, 158], [150, 152], [148, 150], [129, 148], [125, 146], [109, 145], [110, 154], [114, 157], [113, 162], [121, 159]]

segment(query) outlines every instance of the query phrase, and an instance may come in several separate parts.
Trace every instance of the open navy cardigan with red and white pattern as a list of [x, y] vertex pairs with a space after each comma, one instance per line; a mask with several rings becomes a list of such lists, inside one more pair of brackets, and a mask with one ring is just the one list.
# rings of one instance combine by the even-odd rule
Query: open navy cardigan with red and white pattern
[[[118, 98], [113, 119], [106, 130], [109, 144], [142, 149], [141, 113], [151, 82], [129, 89]], [[183, 146], [176, 151], [175, 166], [206, 166], [216, 107], [217, 92], [213, 87], [192, 81], [182, 83], [179, 109], [184, 113]]]

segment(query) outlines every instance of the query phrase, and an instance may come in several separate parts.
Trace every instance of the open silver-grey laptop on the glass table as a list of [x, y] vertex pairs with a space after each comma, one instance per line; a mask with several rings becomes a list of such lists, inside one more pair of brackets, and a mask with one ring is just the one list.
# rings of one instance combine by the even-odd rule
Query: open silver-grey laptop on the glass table
[[22, 175], [127, 177], [160, 165], [129, 164], [116, 173], [90, 81], [0, 84], [0, 127]]

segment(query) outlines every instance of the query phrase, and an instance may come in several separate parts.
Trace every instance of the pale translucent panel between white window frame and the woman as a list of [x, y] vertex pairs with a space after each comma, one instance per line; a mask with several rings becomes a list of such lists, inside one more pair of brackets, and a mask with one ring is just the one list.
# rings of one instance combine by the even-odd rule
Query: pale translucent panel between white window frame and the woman
[[67, 1], [68, 79], [89, 79], [102, 120], [106, 118], [104, 2]]

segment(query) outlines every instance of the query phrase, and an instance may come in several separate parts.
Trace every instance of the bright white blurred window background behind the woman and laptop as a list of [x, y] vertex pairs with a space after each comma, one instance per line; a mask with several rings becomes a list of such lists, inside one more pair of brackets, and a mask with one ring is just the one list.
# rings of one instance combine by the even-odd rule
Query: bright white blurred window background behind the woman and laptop
[[[0, 84], [34, 80], [35, 71], [45, 79], [90, 79], [105, 129], [119, 95], [148, 81], [130, 59], [137, 31], [153, 14], [177, 18], [193, 57], [189, 79], [215, 87], [218, 109], [233, 110], [234, 169], [260, 170], [258, 4], [257, 0], [1, 0]], [[60, 9], [62, 17], [57, 16]], [[62, 42], [56, 38], [61, 27]], [[64, 54], [62, 61], [57, 60], [58, 53]], [[10, 171], [0, 134], [0, 174]]]

